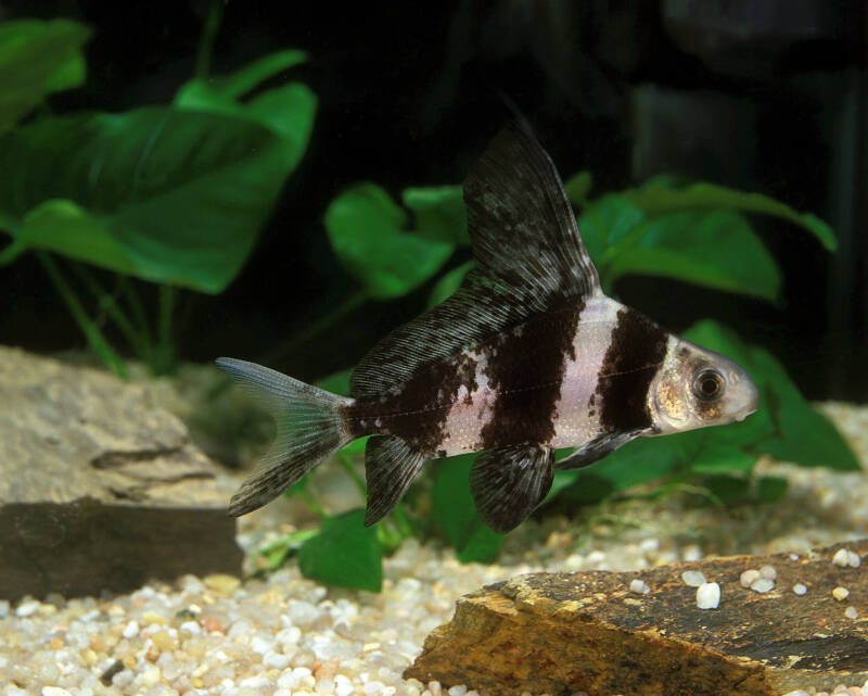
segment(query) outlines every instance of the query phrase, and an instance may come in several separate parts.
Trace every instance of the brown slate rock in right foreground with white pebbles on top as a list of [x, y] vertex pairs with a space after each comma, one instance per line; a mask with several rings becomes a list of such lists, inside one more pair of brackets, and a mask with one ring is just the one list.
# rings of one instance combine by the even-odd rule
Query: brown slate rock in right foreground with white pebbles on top
[[[868, 540], [809, 557], [730, 556], [637, 572], [532, 573], [458, 600], [455, 617], [425, 640], [405, 679], [500, 694], [740, 694], [777, 696], [868, 678], [868, 621], [846, 617], [835, 586], [868, 597], [868, 573], [832, 565], [840, 547], [860, 556]], [[771, 566], [777, 586], [739, 582]], [[717, 609], [697, 607], [686, 570], [720, 585]], [[639, 579], [646, 595], [629, 591]], [[809, 591], [789, 589], [801, 582]]]

